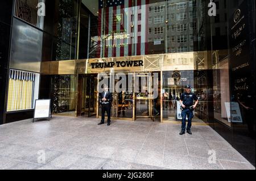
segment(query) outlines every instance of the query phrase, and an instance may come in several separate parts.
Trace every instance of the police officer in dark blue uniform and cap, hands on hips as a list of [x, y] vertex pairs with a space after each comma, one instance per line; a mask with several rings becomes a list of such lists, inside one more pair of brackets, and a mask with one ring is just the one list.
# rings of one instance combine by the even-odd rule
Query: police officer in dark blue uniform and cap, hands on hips
[[[196, 101], [193, 104], [194, 100]], [[195, 94], [191, 92], [191, 86], [185, 87], [185, 92], [180, 96], [180, 104], [181, 104], [181, 117], [182, 117], [182, 125], [181, 125], [181, 132], [180, 135], [185, 134], [186, 128], [186, 118], [188, 116], [188, 125], [187, 125], [187, 133], [191, 133], [191, 125], [192, 125], [192, 118], [193, 118], [193, 110], [195, 110], [199, 100]]]

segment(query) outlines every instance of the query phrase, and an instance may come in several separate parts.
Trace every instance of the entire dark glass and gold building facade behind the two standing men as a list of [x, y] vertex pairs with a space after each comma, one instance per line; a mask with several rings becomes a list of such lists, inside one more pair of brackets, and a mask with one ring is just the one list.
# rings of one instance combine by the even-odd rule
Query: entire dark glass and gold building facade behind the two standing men
[[[250, 106], [255, 111], [255, 104], [249, 99], [255, 100], [253, 0], [214, 1], [216, 17], [208, 16], [206, 0], [112, 1], [119, 5], [103, 0], [46, 1], [47, 16], [39, 19], [30, 15], [35, 12], [38, 0], [14, 1], [16, 5], [20, 2], [28, 5], [15, 6], [19, 7], [15, 11], [13, 1], [0, 3], [0, 7], [6, 7], [6, 16], [0, 16], [1, 124], [32, 117], [36, 98], [51, 98], [53, 113], [97, 116], [98, 73], [123, 72], [132, 80], [136, 73], [141, 73], [140, 80], [146, 78], [147, 86], [158, 86], [158, 99], [152, 102], [150, 88], [146, 96], [145, 92], [134, 91], [141, 91], [144, 86], [128, 82], [132, 89], [126, 91], [127, 96], [114, 92], [113, 117], [178, 121], [176, 101], [183, 86], [191, 84], [200, 98], [195, 121], [210, 124], [220, 134], [224, 130], [222, 135], [233, 140], [237, 148], [250, 148], [252, 140], [246, 135], [255, 132], [255, 119], [248, 119], [251, 112], [246, 108]], [[237, 9], [241, 9], [245, 15], [241, 17], [248, 24], [239, 37], [247, 43], [242, 57], [234, 57], [229, 51], [236, 46], [228, 35]], [[117, 61], [143, 61], [143, 66], [91, 66]], [[13, 71], [35, 74], [38, 78], [26, 82], [24, 77], [12, 77]], [[147, 74], [151, 77], [147, 78]], [[117, 80], [109, 82], [114, 85]], [[22, 94], [18, 94], [19, 90]], [[11, 94], [29, 103], [24, 106], [20, 101], [10, 108]], [[239, 103], [243, 123], [228, 121], [232, 112], [225, 106], [232, 101]], [[156, 117], [154, 108], [159, 111]], [[247, 145], [239, 141], [241, 137]], [[246, 153], [252, 154], [251, 150]], [[252, 155], [255, 158], [255, 153]]]

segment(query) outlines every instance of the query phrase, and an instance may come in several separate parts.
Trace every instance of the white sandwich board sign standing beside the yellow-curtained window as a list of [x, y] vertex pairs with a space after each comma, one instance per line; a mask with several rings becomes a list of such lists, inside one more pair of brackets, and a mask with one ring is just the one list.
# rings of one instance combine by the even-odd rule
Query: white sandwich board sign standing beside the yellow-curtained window
[[48, 119], [51, 116], [51, 99], [37, 99], [35, 101], [35, 110], [34, 110], [34, 117], [33, 123], [35, 119]]

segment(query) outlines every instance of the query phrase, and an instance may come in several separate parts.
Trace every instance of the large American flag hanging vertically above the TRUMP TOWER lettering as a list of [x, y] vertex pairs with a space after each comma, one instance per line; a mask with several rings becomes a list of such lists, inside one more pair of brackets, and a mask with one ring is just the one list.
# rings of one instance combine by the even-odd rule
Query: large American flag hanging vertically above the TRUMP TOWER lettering
[[[147, 54], [149, 0], [98, 1], [98, 44], [101, 46], [97, 50], [97, 57]], [[141, 20], [138, 20], [139, 16]], [[121, 38], [114, 39], [119, 35]]]

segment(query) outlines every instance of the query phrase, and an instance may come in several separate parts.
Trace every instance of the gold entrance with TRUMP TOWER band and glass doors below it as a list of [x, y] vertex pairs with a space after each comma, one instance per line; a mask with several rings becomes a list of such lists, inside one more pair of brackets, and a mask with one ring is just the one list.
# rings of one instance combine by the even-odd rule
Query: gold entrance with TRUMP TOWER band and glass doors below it
[[[217, 52], [221, 53], [221, 52]], [[48, 61], [42, 62], [41, 73], [52, 76], [68, 75], [73, 77], [75, 91], [72, 102], [75, 108], [68, 111], [55, 110], [58, 115], [69, 116], [93, 116], [100, 117], [101, 109], [98, 103], [97, 75], [124, 73], [133, 77], [133, 89], [122, 92], [113, 91], [112, 117], [113, 119], [135, 121], [140, 118], [157, 120], [162, 123], [180, 121], [179, 119], [179, 96], [183, 87], [191, 84], [193, 91], [197, 90], [198, 81], [195, 80], [195, 71], [207, 70], [209, 52], [188, 52], [153, 54], [130, 57], [92, 58], [84, 60]], [[209, 58], [208, 58], [209, 57]], [[147, 85], [148, 90], [135, 91], [135, 77], [150, 74]], [[154, 74], [158, 75], [158, 81], [153, 81]], [[147, 79], [147, 78], [146, 78]], [[115, 86], [115, 80], [113, 86]], [[158, 99], [152, 98], [152, 87], [157, 84]], [[201, 86], [202, 87], [202, 86]], [[201, 88], [200, 88], [201, 89]], [[202, 88], [203, 89], [203, 88]], [[207, 88], [205, 87], [205, 90]], [[71, 95], [71, 94], [69, 94]], [[70, 100], [69, 100], [70, 102]], [[207, 104], [207, 102], [206, 102]], [[203, 106], [207, 107], [207, 106]], [[204, 112], [204, 110], [199, 110]], [[198, 119], [200, 123], [204, 123]]]

